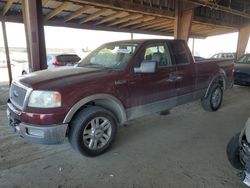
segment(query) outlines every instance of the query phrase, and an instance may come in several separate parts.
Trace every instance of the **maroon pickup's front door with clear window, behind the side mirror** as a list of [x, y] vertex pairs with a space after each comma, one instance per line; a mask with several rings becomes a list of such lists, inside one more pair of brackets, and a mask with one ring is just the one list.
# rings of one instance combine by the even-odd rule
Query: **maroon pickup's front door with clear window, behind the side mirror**
[[[145, 60], [156, 61], [155, 73], [133, 73], [129, 81], [130, 107], [155, 103], [176, 96], [175, 81], [171, 75], [175, 74], [176, 67], [172, 64], [169, 50], [165, 43], [147, 45], [136, 67]], [[172, 100], [172, 103], [175, 103]]]

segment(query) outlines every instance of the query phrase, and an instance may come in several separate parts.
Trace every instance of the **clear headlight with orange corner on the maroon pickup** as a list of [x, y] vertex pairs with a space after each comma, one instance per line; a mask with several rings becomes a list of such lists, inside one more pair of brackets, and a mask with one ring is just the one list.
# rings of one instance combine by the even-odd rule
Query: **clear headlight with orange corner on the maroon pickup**
[[61, 106], [61, 94], [57, 91], [32, 91], [29, 97], [29, 107], [56, 108]]

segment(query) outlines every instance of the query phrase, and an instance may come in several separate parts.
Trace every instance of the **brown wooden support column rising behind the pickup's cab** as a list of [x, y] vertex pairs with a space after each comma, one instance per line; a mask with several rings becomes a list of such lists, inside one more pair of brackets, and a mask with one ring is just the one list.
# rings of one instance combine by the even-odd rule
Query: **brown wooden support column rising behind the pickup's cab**
[[175, 3], [174, 38], [187, 42], [191, 31], [193, 9], [195, 6], [182, 0], [176, 0]]

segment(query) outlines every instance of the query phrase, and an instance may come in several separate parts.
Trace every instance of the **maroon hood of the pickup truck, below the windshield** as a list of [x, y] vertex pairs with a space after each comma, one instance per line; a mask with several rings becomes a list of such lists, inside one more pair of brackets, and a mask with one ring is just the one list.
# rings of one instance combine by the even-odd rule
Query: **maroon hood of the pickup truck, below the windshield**
[[23, 85], [33, 89], [61, 88], [68, 84], [97, 79], [111, 70], [82, 67], [62, 67], [33, 72], [17, 79]]

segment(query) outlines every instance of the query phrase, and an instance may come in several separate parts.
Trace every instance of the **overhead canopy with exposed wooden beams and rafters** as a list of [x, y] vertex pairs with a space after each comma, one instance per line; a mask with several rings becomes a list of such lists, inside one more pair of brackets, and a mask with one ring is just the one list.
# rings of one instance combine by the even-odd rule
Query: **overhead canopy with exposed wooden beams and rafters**
[[[249, 0], [186, 0], [193, 9], [191, 36], [237, 32], [250, 22]], [[0, 20], [22, 22], [21, 0], [0, 0]], [[170, 35], [175, 0], [42, 0], [45, 25]]]

